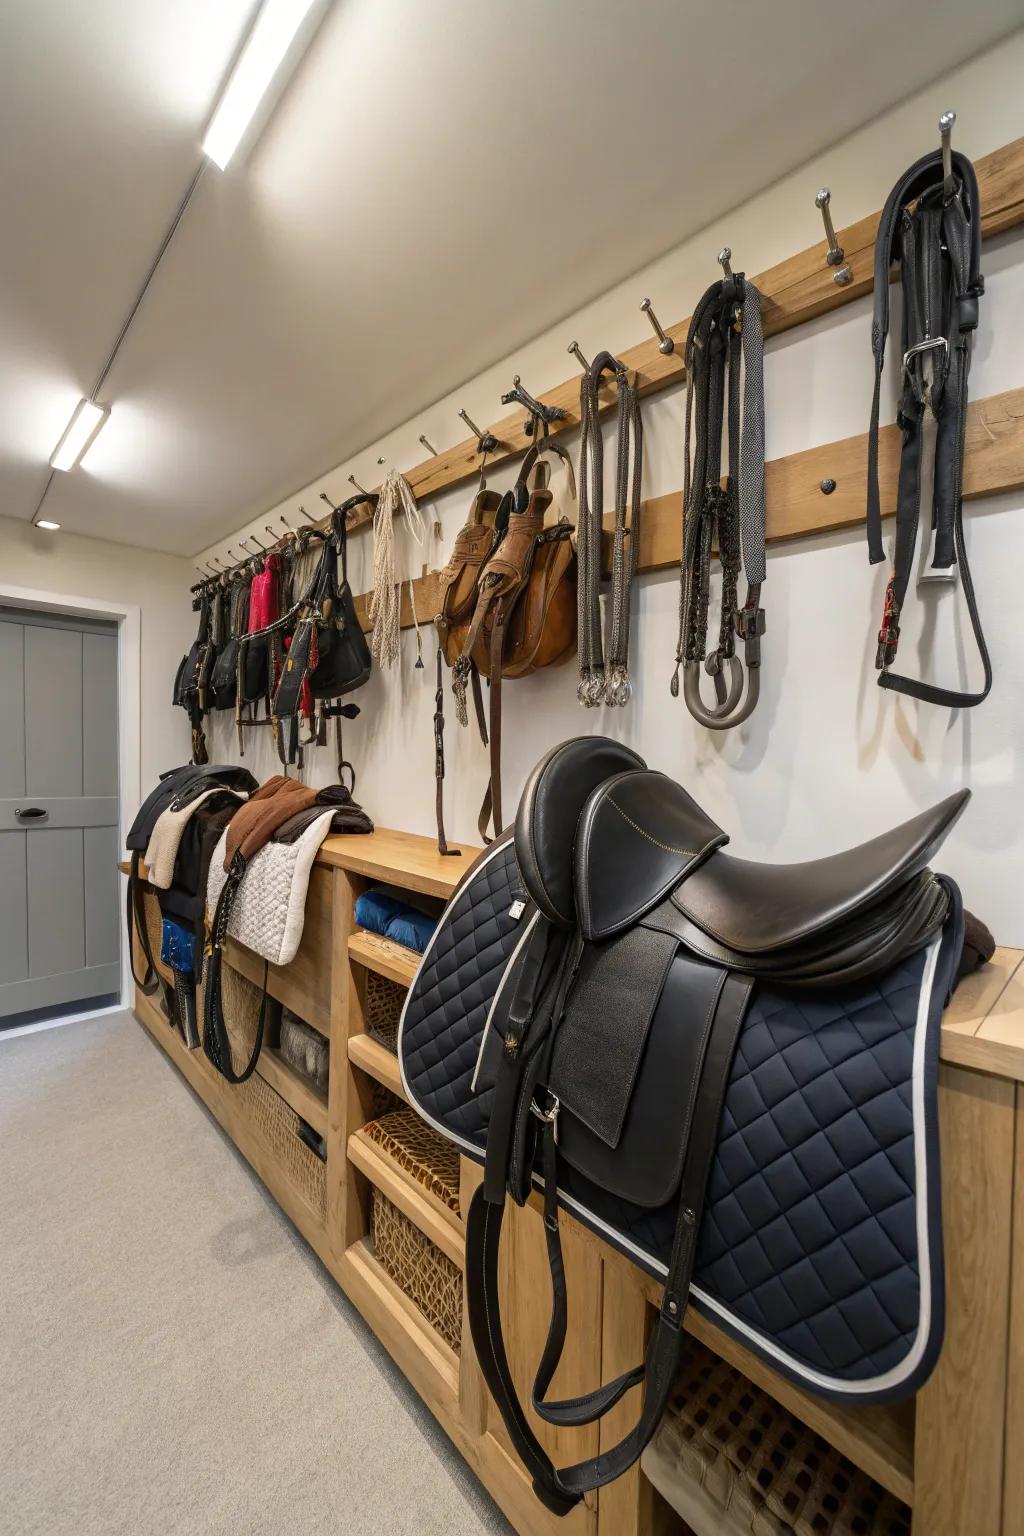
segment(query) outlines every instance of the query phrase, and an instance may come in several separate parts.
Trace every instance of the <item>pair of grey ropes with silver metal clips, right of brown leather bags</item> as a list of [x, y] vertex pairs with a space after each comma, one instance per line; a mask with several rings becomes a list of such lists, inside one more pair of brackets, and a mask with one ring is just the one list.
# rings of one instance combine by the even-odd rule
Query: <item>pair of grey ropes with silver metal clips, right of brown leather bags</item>
[[[603, 373], [613, 373], [619, 404], [616, 413], [616, 528], [611, 556], [611, 601], [606, 636], [600, 617], [600, 547], [605, 515], [605, 444], [600, 427], [599, 389]], [[637, 568], [640, 488], [643, 476], [643, 425], [636, 373], [628, 373], [609, 352], [600, 352], [580, 382], [580, 470], [577, 558], [577, 617], [580, 680], [577, 697], [593, 708], [629, 702], [629, 607]]]

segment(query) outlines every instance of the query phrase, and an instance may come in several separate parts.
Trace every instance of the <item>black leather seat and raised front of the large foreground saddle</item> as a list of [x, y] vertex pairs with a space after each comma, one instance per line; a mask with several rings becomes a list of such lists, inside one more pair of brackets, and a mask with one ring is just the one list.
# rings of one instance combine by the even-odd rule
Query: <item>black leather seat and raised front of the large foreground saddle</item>
[[927, 865], [967, 799], [824, 859], [752, 863], [722, 852], [728, 834], [682, 785], [617, 742], [576, 737], [531, 774], [516, 854], [545, 917], [588, 942], [643, 920], [732, 969], [835, 982], [941, 922]]

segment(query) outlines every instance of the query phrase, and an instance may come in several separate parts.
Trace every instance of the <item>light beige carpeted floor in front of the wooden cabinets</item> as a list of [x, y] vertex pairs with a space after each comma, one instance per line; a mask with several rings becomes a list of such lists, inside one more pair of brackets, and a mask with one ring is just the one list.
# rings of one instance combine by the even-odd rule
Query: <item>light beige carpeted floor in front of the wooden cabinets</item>
[[126, 1014], [0, 1038], [0, 1530], [508, 1531]]

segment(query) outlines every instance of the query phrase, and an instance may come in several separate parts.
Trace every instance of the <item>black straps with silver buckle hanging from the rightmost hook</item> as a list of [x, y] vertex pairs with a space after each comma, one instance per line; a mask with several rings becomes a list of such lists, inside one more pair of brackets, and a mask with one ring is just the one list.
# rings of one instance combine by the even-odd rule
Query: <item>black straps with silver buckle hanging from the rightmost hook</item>
[[[972, 335], [978, 326], [981, 220], [978, 180], [966, 155], [953, 152], [953, 192], [946, 195], [940, 151], [921, 157], [889, 194], [875, 241], [875, 312], [872, 323], [874, 392], [867, 433], [867, 553], [884, 561], [878, 487], [878, 418], [889, 333], [889, 272], [900, 266], [903, 286], [903, 382], [897, 422], [903, 436], [897, 487], [897, 531], [886, 585], [875, 667], [878, 687], [926, 703], [970, 708], [992, 688], [992, 662], [981, 628], [963, 531], [963, 468], [967, 427], [967, 378]], [[924, 421], [935, 418], [935, 465], [930, 519], [932, 568], [960, 568], [983, 687], [973, 693], [943, 688], [892, 671], [900, 619], [913, 574], [921, 513]]]

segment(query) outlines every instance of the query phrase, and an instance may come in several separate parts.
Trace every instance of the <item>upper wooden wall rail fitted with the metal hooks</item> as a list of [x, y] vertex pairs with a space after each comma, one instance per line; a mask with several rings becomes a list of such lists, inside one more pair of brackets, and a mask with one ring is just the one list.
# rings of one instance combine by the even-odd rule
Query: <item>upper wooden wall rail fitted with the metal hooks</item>
[[[976, 161], [975, 169], [981, 194], [983, 237], [990, 238], [1004, 229], [1013, 229], [1024, 223], [1024, 138], [1015, 138], [1013, 143], [995, 149], [990, 155], [983, 155]], [[765, 298], [766, 336], [792, 330], [795, 326], [804, 324], [804, 321], [815, 319], [818, 315], [840, 309], [840, 306], [849, 304], [864, 293], [870, 293], [874, 287], [875, 233], [880, 218], [881, 210], [869, 214], [867, 218], [861, 218], [855, 224], [847, 224], [846, 229], [838, 232], [846, 261], [854, 273], [852, 281], [846, 287], [837, 287], [832, 281], [834, 267], [826, 266], [824, 255], [827, 247], [823, 240], [754, 278]], [[711, 281], [712, 275], [714, 266], [709, 261], [708, 281]], [[666, 327], [668, 335], [676, 343], [676, 350], [669, 352], [668, 356], [659, 352], [654, 336], [619, 353], [628, 369], [637, 370], [642, 393], [651, 395], [683, 378], [683, 350], [688, 329], [689, 319], [680, 319], [674, 326]], [[869, 367], [869, 362], [870, 359], [866, 356], [864, 367]], [[559, 384], [557, 389], [539, 396], [543, 406], [559, 406], [567, 412], [565, 421], [553, 424], [553, 435], [570, 432], [579, 425], [579, 389], [577, 373], [574, 378], [567, 379], [565, 384]], [[614, 392], [606, 387], [602, 392], [602, 401], [605, 409], [608, 409], [614, 402]], [[490, 430], [497, 438], [499, 447], [490, 456], [488, 464], [500, 464], [508, 458], [516, 458], [527, 452], [531, 439], [522, 430], [525, 419], [527, 413], [520, 407], [491, 424]], [[471, 479], [479, 467], [481, 456], [476, 452], [476, 438], [468, 438], [407, 470], [405, 479], [415, 490], [416, 498], [422, 501], [424, 498], [436, 496], [451, 485], [459, 485]], [[364, 508], [358, 508], [348, 525], [350, 528], [358, 528], [370, 521], [372, 515]]]

